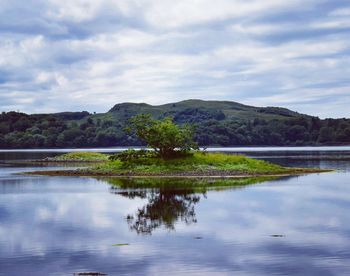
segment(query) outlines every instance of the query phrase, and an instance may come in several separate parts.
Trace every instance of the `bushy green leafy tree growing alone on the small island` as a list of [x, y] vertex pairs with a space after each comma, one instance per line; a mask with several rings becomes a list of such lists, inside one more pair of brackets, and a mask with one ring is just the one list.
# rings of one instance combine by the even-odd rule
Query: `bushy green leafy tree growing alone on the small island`
[[137, 115], [129, 120], [126, 131], [135, 133], [148, 147], [165, 159], [199, 149], [193, 140], [194, 128], [188, 124], [178, 126], [169, 117], [155, 120], [150, 114]]

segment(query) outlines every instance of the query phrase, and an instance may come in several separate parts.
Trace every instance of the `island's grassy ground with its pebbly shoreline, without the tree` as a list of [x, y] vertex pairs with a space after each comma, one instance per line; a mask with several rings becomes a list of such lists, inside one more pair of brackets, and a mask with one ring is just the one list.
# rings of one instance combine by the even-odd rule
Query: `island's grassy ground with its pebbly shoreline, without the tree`
[[[104, 161], [88, 168], [74, 171], [45, 171], [37, 172], [45, 175], [80, 175], [80, 176], [173, 176], [173, 177], [196, 177], [196, 176], [260, 176], [260, 175], [290, 175], [315, 173], [325, 170], [286, 168], [262, 160], [256, 160], [243, 155], [230, 155], [223, 153], [195, 152], [191, 155], [165, 160], [159, 157], [148, 157], [122, 162], [110, 161], [108, 156], [97, 153], [71, 153], [56, 160], [73, 160], [72, 157], [80, 158], [79, 161]], [[84, 159], [82, 158], [84, 157]], [[77, 157], [77, 158], [78, 158]]]

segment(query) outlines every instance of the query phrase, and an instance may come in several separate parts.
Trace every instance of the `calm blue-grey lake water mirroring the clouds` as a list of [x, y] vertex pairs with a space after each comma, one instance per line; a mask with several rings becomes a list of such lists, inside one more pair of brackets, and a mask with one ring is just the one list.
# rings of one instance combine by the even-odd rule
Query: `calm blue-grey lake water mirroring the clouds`
[[338, 171], [143, 189], [16, 175], [57, 152], [2, 151], [0, 275], [350, 275], [350, 148], [220, 150]]

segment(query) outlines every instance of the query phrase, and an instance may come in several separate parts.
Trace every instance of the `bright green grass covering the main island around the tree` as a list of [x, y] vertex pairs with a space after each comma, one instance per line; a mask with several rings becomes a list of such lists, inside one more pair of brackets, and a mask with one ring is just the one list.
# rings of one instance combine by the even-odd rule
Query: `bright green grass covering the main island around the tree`
[[[172, 175], [181, 174], [182, 172], [191, 172], [198, 175], [207, 172], [211, 172], [211, 175], [215, 174], [215, 172], [217, 172], [217, 175], [232, 173], [271, 175], [300, 172], [302, 169], [285, 168], [243, 155], [195, 152], [186, 157], [169, 160], [153, 157], [137, 159], [132, 162], [108, 161], [85, 170], [86, 172], [105, 175]], [[308, 171], [311, 170], [308, 169]]]

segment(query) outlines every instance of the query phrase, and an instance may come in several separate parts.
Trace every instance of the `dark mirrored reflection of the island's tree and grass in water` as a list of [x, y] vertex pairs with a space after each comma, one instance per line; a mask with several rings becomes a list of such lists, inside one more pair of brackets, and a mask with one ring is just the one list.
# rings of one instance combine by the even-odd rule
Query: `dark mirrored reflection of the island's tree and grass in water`
[[138, 234], [151, 234], [159, 227], [174, 230], [178, 221], [196, 223], [195, 205], [206, 197], [208, 190], [241, 188], [271, 177], [241, 179], [106, 179], [110, 192], [130, 199], [146, 199], [147, 203], [135, 214], [128, 214], [130, 230]]

